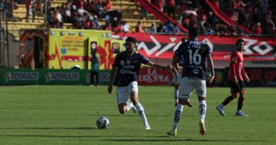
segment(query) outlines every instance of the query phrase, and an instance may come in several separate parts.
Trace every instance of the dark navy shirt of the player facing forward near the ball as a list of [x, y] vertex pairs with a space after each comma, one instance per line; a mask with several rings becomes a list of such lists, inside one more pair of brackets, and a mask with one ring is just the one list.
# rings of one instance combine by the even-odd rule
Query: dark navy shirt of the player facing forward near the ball
[[139, 53], [134, 53], [131, 57], [127, 57], [126, 52], [117, 54], [113, 63], [113, 67], [117, 67], [114, 85], [127, 86], [132, 81], [138, 81], [141, 64], [148, 62], [149, 59]]

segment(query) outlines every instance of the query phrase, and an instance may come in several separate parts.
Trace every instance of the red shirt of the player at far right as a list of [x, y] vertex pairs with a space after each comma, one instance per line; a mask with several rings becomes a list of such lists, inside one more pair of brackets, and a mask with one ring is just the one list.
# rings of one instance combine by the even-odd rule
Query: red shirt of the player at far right
[[[243, 69], [243, 52], [238, 52], [236, 49], [231, 53], [230, 57], [230, 63], [234, 62], [234, 68], [235, 68], [235, 74], [238, 79], [238, 81], [243, 81], [243, 76], [241, 73], [241, 70]], [[233, 81], [234, 80], [234, 74], [231, 69], [231, 66], [229, 68], [229, 74], [228, 79]]]

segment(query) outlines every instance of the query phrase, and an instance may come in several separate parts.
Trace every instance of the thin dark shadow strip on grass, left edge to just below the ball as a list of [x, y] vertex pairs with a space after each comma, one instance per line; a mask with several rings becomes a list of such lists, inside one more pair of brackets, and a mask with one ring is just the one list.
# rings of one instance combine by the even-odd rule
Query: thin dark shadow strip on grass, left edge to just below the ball
[[1, 127], [1, 129], [98, 129], [96, 127]]

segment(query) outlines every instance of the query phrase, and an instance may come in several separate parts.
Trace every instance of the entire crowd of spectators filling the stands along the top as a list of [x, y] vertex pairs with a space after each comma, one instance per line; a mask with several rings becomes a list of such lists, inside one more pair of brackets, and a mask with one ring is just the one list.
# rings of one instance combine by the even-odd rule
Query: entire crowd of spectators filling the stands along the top
[[[3, 0], [2, 0], [3, 1]], [[11, 2], [7, 0], [8, 4]], [[20, 1], [20, 0], [18, 0]], [[148, 12], [141, 8], [140, 20], [134, 29], [122, 19], [122, 12], [112, 9], [111, 0], [68, 0], [53, 8], [53, 0], [25, 0], [26, 18], [45, 16], [44, 2], [47, 2], [47, 22], [52, 28], [63, 28], [64, 23], [72, 23], [74, 28], [91, 30], [113, 30], [114, 32], [180, 33], [176, 23], [170, 21], [156, 26], [151, 23], [142, 29], [142, 19], [148, 20]], [[136, 1], [136, 0], [130, 0]], [[184, 28], [198, 26], [202, 35], [244, 35], [243, 25], [255, 35], [275, 35], [275, 23], [272, 21], [272, 7], [268, 0], [209, 0], [213, 6], [231, 18], [237, 25], [226, 25], [205, 4], [205, 0], [146, 0], [160, 11], [167, 13]], [[12, 11], [11, 11], [12, 12]], [[12, 13], [9, 15], [12, 15]], [[105, 21], [100, 25], [98, 19]]]

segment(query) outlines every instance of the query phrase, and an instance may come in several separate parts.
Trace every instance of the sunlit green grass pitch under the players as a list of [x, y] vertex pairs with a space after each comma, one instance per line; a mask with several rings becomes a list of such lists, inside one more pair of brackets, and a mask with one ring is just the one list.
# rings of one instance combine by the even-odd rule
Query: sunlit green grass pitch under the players
[[[107, 86], [1, 86], [0, 144], [276, 144], [276, 88], [247, 88], [243, 112], [236, 117], [237, 99], [226, 106], [226, 117], [215, 106], [229, 88], [208, 88], [207, 134], [199, 133], [198, 101], [184, 108], [176, 137], [167, 137], [173, 124], [173, 86], [139, 86], [151, 130], [132, 111], [120, 115], [116, 91]], [[109, 129], [97, 129], [106, 116]]]

